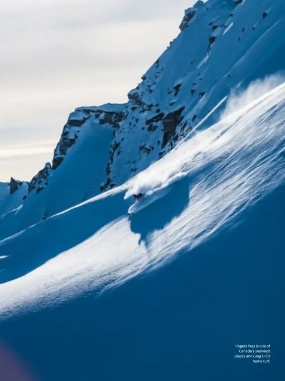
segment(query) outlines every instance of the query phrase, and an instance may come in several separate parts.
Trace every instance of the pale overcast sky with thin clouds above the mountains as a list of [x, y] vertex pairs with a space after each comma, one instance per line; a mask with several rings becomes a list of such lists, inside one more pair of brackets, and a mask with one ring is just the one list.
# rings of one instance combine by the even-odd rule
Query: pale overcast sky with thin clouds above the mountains
[[1, 2], [0, 181], [29, 180], [51, 160], [76, 107], [125, 102], [194, 2]]

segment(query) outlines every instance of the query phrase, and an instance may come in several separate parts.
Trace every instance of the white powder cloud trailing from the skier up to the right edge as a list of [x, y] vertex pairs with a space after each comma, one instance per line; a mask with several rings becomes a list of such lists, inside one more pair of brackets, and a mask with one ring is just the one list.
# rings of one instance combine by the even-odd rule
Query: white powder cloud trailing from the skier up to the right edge
[[[233, 123], [236, 123], [241, 115], [249, 112], [284, 81], [285, 77], [277, 74], [251, 83], [246, 90], [233, 92], [220, 115], [222, 124], [218, 122], [203, 132], [192, 134], [190, 139], [181, 142], [155, 166], [151, 165], [145, 171], [138, 173], [130, 181], [125, 199], [139, 193], [151, 196], [159, 190], [170, 187], [189, 172], [194, 175], [207, 161], [219, 157], [224, 145], [230, 144], [229, 142], [236, 136], [235, 131], [232, 133], [229, 131]], [[227, 135], [222, 138], [226, 132], [228, 132]], [[185, 163], [191, 163], [191, 165]]]

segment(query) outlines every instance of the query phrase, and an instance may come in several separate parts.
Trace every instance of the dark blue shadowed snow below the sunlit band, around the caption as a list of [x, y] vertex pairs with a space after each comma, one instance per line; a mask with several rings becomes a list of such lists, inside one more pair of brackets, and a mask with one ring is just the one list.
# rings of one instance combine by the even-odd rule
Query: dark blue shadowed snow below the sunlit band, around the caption
[[[282, 185], [171, 266], [6, 321], [2, 340], [41, 381], [281, 380], [284, 203]], [[271, 363], [234, 359], [236, 344], [270, 344]]]

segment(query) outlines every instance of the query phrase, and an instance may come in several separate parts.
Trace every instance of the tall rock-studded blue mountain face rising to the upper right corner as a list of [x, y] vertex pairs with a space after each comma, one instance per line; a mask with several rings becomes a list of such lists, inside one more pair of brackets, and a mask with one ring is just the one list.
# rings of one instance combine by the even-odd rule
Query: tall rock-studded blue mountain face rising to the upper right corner
[[186, 10], [182, 32], [128, 94], [104, 188], [169, 152], [232, 90], [282, 71], [284, 14], [282, 0], [199, 1]]

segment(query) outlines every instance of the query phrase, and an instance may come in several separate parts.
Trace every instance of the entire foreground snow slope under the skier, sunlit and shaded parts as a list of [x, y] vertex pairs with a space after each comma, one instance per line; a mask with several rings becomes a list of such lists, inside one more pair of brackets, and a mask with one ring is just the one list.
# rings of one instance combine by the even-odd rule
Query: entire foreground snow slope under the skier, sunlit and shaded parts
[[[285, 85], [242, 100], [122, 186], [0, 242], [1, 336], [35, 379], [283, 379]], [[166, 192], [127, 217], [142, 189]], [[273, 363], [235, 360], [245, 343], [270, 344]]]

